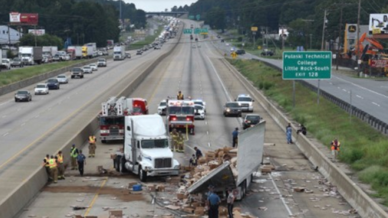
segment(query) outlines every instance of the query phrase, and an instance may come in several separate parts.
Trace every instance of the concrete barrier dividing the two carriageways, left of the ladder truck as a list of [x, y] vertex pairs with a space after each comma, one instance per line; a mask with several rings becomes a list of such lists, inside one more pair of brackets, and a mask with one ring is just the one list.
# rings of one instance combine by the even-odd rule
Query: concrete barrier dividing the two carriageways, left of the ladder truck
[[[178, 41], [180, 40], [180, 36]], [[177, 45], [178, 43], [176, 43], [169, 51], [161, 55], [158, 59], [153, 61], [149, 67], [139, 73], [139, 75], [130, 84], [128, 84], [127, 87], [117, 93], [117, 96], [130, 95], [136, 89], [136, 87], [139, 86], [141, 82], [153, 72], [153, 70], [160, 62], [171, 55]], [[90, 60], [90, 63], [92, 62], [95, 62], [95, 60]], [[85, 144], [88, 140], [89, 134], [91, 132], [95, 132], [99, 128], [98, 120], [96, 119], [97, 116], [98, 114], [96, 114], [93, 119], [87, 122], [85, 126], [81, 127], [81, 129], [76, 134], [74, 134], [73, 137], [70, 137], [69, 140], [60, 149], [58, 149], [58, 151], [69, 151], [73, 143], [77, 145]], [[58, 153], [58, 151], [56, 153]], [[64, 162], [69, 163], [69, 161], [69, 155], [64, 155]], [[37, 167], [37, 169], [32, 172], [31, 175], [25, 181], [23, 181], [20, 186], [18, 186], [5, 199], [0, 201], [0, 217], [14, 217], [17, 215], [23, 209], [23, 207], [27, 205], [29, 201], [33, 199], [34, 196], [39, 193], [39, 191], [46, 185], [47, 179], [48, 178], [45, 169], [41, 166]]]

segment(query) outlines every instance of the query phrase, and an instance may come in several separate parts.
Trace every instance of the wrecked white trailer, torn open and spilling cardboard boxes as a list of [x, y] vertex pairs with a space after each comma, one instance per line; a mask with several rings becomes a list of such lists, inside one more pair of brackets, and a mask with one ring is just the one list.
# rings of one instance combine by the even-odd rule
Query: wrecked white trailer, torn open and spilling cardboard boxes
[[[236, 199], [243, 199], [252, 183], [254, 173], [263, 163], [264, 135], [265, 121], [240, 132], [235, 169], [231, 167], [233, 160], [224, 161], [222, 165], [193, 183], [187, 189], [188, 193], [205, 193], [208, 187], [213, 185], [214, 191], [218, 193], [225, 193], [229, 188], [235, 189]], [[233, 171], [238, 172], [237, 175], [233, 174]]]

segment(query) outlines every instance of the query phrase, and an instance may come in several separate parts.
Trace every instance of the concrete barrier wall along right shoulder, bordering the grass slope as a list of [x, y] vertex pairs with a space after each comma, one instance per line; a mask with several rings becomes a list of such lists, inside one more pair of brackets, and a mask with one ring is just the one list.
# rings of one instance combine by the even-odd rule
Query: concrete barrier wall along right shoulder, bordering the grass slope
[[[250, 94], [264, 107], [273, 120], [285, 130], [288, 123], [291, 123], [266, 96], [264, 96], [256, 87], [252, 85], [247, 78], [241, 75], [226, 60], [224, 64], [245, 84]], [[311, 141], [304, 135], [297, 135], [296, 128], [293, 126], [293, 138], [297, 138], [296, 145], [301, 149], [305, 156], [318, 167], [319, 172], [337, 187], [338, 192], [354, 207], [358, 213], [365, 218], [388, 217], [388, 214], [374, 202], [360, 187], [355, 184], [344, 172], [342, 172], [334, 163], [329, 160]]]

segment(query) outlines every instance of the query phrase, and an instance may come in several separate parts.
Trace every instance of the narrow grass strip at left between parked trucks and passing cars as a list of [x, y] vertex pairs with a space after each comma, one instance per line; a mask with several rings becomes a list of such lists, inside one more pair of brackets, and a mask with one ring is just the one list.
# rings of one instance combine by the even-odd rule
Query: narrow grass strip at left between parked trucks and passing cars
[[84, 61], [85, 60], [58, 62], [58, 63], [52, 63], [52, 64], [43, 64], [43, 65], [13, 69], [11, 71], [2, 71], [0, 72], [0, 87], [9, 85], [15, 82], [19, 82], [50, 71], [58, 70], [63, 67], [68, 67], [70, 65], [78, 64]]

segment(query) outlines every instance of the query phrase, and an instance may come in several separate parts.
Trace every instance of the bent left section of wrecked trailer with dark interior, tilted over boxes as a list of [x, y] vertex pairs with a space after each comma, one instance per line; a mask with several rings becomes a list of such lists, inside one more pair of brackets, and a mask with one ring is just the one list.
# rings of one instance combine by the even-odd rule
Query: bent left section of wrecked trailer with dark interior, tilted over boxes
[[214, 186], [215, 191], [236, 187], [235, 178], [228, 161], [211, 171], [207, 176], [192, 184], [187, 191], [190, 194], [204, 193], [209, 191], [208, 188], [210, 185]]

